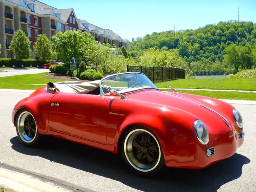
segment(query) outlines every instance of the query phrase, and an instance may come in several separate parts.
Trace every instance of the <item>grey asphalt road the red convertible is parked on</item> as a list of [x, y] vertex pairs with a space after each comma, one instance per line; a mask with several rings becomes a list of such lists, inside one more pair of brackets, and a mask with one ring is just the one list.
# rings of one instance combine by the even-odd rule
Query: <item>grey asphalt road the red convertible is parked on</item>
[[0, 91], [0, 162], [99, 192], [256, 191], [256, 105], [234, 104], [244, 119], [244, 144], [231, 158], [202, 170], [169, 169], [157, 178], [134, 176], [114, 154], [57, 138], [26, 148], [11, 122], [13, 106], [28, 92]]

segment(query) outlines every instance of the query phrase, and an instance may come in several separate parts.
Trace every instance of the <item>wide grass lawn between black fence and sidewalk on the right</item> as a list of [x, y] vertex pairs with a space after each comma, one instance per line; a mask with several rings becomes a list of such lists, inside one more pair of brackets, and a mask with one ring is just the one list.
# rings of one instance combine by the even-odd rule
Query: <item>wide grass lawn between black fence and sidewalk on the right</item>
[[173, 88], [188, 89], [222, 89], [222, 90], [256, 90], [256, 78], [252, 79], [179, 79], [166, 82], [156, 82], [158, 88], [166, 88], [167, 84]]

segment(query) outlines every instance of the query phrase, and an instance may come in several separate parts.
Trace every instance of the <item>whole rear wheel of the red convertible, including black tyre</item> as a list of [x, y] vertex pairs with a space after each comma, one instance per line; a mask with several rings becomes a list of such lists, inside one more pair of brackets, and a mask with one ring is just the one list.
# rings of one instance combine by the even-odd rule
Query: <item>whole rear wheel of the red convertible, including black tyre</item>
[[37, 146], [40, 140], [36, 121], [28, 110], [19, 112], [16, 118], [16, 132], [19, 140], [26, 146]]

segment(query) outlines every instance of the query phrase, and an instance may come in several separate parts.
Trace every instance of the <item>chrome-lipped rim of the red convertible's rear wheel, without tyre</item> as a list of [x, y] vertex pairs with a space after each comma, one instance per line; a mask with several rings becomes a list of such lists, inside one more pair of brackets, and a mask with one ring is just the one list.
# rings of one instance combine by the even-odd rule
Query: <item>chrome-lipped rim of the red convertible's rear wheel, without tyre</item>
[[24, 111], [20, 114], [17, 122], [18, 134], [20, 138], [26, 142], [32, 142], [37, 133], [36, 121], [32, 114], [28, 111]]

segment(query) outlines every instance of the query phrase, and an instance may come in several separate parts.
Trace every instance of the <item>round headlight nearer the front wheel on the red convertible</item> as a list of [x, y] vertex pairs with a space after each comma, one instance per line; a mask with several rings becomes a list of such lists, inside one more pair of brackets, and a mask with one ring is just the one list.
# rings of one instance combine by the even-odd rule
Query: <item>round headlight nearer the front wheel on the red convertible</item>
[[200, 120], [194, 122], [196, 137], [198, 138], [199, 142], [203, 145], [207, 145], [209, 142], [209, 134], [208, 130], [204, 123]]

